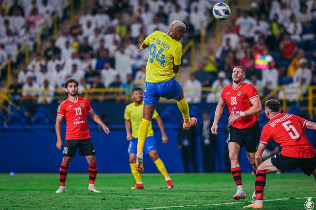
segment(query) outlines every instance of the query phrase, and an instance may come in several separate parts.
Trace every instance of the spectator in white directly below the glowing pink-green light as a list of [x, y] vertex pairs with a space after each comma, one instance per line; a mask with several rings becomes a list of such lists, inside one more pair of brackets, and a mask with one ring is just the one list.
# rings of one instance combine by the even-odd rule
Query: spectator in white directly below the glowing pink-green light
[[278, 70], [272, 66], [273, 58], [266, 56], [269, 62], [269, 68], [262, 71], [262, 85], [266, 88], [275, 88], [278, 86]]

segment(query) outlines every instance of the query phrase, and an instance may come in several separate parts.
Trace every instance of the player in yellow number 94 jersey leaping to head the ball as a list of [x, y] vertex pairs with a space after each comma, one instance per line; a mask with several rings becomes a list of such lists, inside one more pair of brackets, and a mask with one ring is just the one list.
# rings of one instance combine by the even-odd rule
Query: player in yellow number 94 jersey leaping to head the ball
[[[148, 35], [139, 47], [139, 52], [149, 48], [146, 65], [146, 89], [144, 91], [143, 118], [139, 125], [136, 170], [144, 171], [143, 149], [148, 135], [155, 106], [159, 98], [175, 99], [183, 116], [183, 128], [189, 129], [197, 124], [197, 119], [190, 118], [189, 105], [184, 98], [179, 82], [175, 80], [181, 64], [182, 44], [180, 40], [186, 31], [181, 21], [173, 21], [167, 33], [155, 31]], [[171, 116], [172, 117], [172, 116]]]

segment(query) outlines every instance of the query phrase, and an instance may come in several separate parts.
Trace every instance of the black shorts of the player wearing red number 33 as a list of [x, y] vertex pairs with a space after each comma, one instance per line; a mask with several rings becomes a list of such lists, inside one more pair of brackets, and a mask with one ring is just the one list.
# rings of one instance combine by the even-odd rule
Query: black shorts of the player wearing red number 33
[[251, 128], [238, 129], [233, 126], [229, 127], [227, 143], [235, 142], [240, 147], [246, 147], [247, 152], [256, 152], [260, 138], [260, 128], [256, 123]]

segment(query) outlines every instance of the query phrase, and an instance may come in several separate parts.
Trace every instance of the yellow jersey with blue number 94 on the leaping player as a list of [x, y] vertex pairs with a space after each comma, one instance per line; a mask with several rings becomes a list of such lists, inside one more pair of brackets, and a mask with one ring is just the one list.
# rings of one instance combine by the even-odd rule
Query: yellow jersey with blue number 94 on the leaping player
[[145, 81], [157, 83], [172, 79], [176, 75], [173, 65], [181, 64], [182, 44], [160, 31], [148, 35], [144, 43], [150, 50]]

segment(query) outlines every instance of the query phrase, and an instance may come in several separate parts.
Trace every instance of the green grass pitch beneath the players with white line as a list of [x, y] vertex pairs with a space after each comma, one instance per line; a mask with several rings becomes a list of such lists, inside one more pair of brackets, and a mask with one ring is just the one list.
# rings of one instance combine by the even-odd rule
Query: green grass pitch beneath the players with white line
[[[216, 206], [213, 204], [234, 202], [232, 196], [236, 186], [230, 174], [171, 174], [174, 182], [172, 190], [166, 188], [160, 174], [144, 174], [142, 178], [145, 189], [130, 190], [134, 184], [132, 175], [98, 174], [96, 186], [102, 193], [93, 194], [87, 190], [87, 174], [69, 173], [66, 181], [68, 192], [56, 194], [59, 186], [57, 173], [0, 174], [0, 209], [105, 210], [191, 205], [170, 209], [238, 210], [250, 203], [255, 176], [242, 174], [248, 195], [244, 203]], [[293, 199], [266, 202], [266, 210], [304, 210], [306, 199], [294, 198], [315, 196], [316, 183], [312, 177], [267, 174], [265, 199]], [[316, 203], [316, 198], [313, 200]]]

